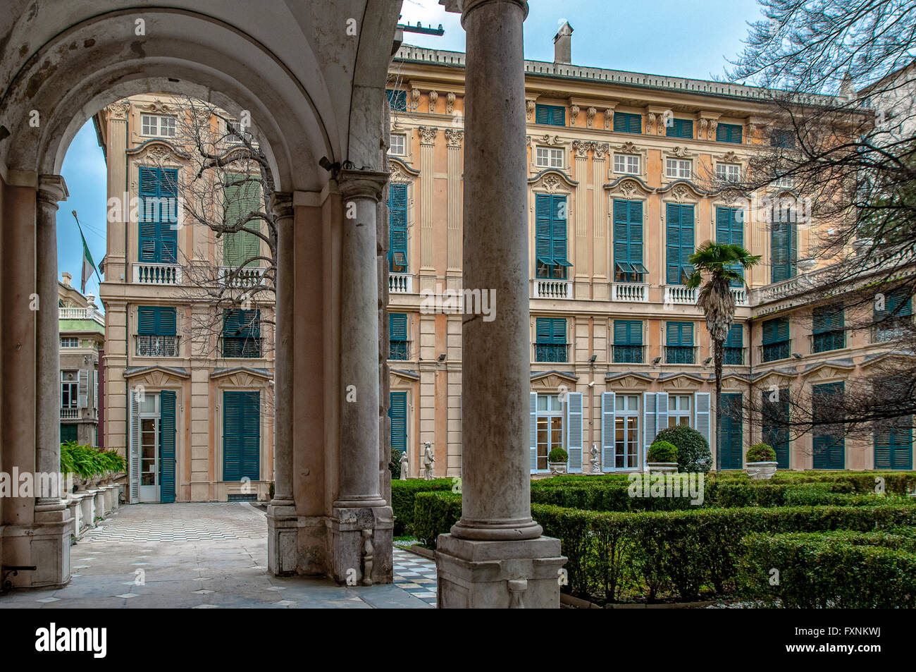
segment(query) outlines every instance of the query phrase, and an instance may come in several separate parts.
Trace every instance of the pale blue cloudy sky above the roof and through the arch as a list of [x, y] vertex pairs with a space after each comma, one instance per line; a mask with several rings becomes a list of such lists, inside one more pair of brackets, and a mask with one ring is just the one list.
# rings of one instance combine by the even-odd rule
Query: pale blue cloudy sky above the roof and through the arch
[[[565, 19], [573, 27], [576, 65], [711, 79], [725, 74], [726, 59], [743, 50], [747, 22], [761, 17], [757, 0], [530, 0], [525, 58], [553, 61], [553, 36]], [[459, 15], [445, 12], [438, 0], [403, 0], [400, 20], [445, 29], [441, 38], [405, 33], [408, 44], [464, 50]], [[73, 139], [61, 173], [71, 195], [58, 211], [58, 270], [70, 271], [79, 289], [82, 242], [72, 210], [96, 265], [105, 253], [106, 173], [92, 121]], [[98, 296], [94, 275], [86, 291]]]

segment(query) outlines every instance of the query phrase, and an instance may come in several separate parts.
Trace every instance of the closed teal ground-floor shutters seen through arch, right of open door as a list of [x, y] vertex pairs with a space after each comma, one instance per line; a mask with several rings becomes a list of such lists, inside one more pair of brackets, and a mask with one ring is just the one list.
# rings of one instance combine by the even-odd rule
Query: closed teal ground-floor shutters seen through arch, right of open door
[[223, 391], [223, 480], [261, 478], [260, 392]]

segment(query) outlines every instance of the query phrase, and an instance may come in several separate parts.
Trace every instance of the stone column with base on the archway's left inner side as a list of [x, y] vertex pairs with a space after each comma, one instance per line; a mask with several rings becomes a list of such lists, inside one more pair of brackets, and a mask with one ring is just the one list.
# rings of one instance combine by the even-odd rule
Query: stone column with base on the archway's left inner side
[[[60, 473], [60, 322], [58, 321], [57, 211], [67, 199], [60, 175], [38, 177], [35, 235], [35, 292], [38, 294], [35, 343], [35, 529], [31, 559], [39, 569], [33, 586], [60, 585], [70, 580], [71, 518], [60, 499], [55, 478], [51, 491], [39, 490], [41, 474]], [[25, 232], [23, 232], [25, 235]]]

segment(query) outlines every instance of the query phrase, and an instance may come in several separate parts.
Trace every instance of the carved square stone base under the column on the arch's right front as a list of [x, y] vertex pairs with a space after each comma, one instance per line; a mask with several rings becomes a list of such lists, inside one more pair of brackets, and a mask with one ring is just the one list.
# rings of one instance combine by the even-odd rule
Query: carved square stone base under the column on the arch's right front
[[[334, 502], [330, 524], [331, 578], [349, 586], [371, 586], [394, 580], [394, 515], [391, 507], [344, 508]], [[364, 531], [369, 531], [364, 534]], [[366, 542], [371, 541], [370, 549]]]

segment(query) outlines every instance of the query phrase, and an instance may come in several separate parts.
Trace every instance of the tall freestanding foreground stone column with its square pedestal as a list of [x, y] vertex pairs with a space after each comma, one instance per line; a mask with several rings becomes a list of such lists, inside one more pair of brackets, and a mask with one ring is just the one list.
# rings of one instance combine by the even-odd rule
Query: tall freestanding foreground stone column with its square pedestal
[[[462, 518], [439, 537], [440, 607], [559, 607], [560, 542], [531, 519], [525, 0], [446, 0], [467, 31], [463, 281], [495, 319], [462, 332]], [[495, 304], [494, 304], [495, 299]]]

